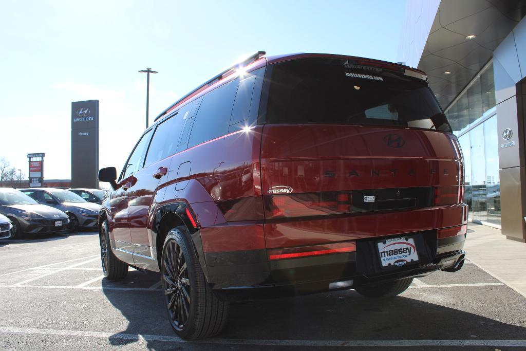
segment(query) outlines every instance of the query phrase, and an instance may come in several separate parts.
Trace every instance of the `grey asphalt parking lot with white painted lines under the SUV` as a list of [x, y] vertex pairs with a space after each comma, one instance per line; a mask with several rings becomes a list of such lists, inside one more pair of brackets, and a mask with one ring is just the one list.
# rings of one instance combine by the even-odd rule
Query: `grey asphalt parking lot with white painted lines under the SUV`
[[235, 304], [224, 331], [198, 343], [172, 332], [161, 301], [156, 274], [103, 278], [97, 233], [0, 240], [2, 350], [526, 347], [526, 298], [470, 262], [392, 299], [349, 290]]

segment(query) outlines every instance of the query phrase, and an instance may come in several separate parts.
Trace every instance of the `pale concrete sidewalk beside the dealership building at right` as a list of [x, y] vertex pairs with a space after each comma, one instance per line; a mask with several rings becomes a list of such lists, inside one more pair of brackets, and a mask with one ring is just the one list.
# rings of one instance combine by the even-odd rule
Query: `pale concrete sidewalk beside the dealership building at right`
[[506, 239], [500, 229], [470, 223], [467, 258], [526, 297], [526, 244]]

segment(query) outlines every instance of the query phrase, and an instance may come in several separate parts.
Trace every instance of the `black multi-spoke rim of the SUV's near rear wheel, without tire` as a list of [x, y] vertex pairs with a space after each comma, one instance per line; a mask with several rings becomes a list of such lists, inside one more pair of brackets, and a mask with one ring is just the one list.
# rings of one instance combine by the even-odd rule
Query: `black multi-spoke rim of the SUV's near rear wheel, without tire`
[[171, 325], [182, 330], [190, 312], [190, 279], [181, 247], [170, 240], [163, 258], [163, 291]]

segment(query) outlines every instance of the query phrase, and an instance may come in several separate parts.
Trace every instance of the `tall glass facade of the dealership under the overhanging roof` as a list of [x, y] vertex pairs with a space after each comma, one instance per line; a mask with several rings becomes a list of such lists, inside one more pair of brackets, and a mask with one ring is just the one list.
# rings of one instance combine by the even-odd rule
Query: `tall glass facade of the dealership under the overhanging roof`
[[469, 218], [500, 225], [500, 179], [493, 64], [447, 109], [464, 155], [464, 202]]

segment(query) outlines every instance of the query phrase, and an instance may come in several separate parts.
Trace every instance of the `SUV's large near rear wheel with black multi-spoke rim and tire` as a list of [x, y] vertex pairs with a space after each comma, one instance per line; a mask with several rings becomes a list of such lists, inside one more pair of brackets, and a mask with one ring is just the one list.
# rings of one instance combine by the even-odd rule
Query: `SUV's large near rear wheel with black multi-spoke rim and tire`
[[206, 282], [191, 239], [181, 230], [168, 232], [161, 256], [161, 283], [168, 320], [175, 333], [187, 340], [215, 335], [224, 327], [229, 303]]

